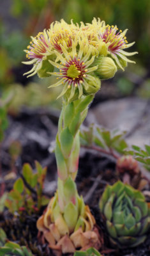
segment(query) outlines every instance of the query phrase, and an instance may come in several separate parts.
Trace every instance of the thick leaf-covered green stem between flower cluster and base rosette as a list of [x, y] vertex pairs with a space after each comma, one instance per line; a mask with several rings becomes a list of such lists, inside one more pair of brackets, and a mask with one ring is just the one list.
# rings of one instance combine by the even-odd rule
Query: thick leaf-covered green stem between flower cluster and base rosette
[[[77, 176], [79, 166], [80, 138], [79, 129], [87, 115], [88, 106], [93, 100], [93, 95], [82, 97], [70, 103], [63, 102], [63, 109], [59, 118], [56, 136], [56, 161], [58, 173], [59, 206], [62, 211], [66, 202], [64, 184], [71, 178], [72, 182]], [[69, 193], [69, 190], [68, 190]], [[69, 198], [75, 204], [77, 189], [73, 190]], [[67, 202], [68, 203], [68, 202]]]

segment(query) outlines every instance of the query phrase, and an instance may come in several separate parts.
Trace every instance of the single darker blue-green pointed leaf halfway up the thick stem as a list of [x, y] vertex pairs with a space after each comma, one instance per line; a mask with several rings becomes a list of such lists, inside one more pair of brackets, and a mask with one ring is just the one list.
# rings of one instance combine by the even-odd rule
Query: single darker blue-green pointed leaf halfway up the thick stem
[[72, 145], [73, 145], [73, 136], [68, 129], [68, 127], [64, 128], [60, 134], [61, 141], [61, 150], [63, 152], [63, 156], [68, 158], [71, 153]]

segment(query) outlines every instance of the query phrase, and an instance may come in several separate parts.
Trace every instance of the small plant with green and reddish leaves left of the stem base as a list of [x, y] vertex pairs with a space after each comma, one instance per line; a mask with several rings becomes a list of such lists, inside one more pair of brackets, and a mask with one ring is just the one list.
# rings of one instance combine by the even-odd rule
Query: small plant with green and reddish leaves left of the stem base
[[39, 212], [41, 206], [47, 205], [49, 199], [42, 194], [47, 168], [35, 162], [36, 173], [29, 164], [24, 164], [22, 177], [15, 181], [13, 189], [8, 193], [5, 206], [14, 214], [26, 211], [27, 214]]

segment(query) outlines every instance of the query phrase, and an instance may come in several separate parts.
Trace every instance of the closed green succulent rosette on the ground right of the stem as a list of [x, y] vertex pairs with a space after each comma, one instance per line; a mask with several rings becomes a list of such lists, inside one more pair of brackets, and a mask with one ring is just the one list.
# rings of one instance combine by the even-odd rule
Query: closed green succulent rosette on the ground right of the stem
[[100, 199], [110, 242], [120, 248], [134, 247], [146, 240], [150, 211], [146, 198], [130, 185], [117, 181], [107, 186]]

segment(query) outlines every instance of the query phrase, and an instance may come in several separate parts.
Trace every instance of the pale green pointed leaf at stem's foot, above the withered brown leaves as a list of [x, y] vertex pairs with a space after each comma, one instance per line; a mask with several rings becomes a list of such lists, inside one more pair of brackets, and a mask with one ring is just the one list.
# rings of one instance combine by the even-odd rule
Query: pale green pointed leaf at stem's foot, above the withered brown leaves
[[66, 207], [64, 207], [63, 216], [70, 232], [73, 232], [78, 218], [77, 207], [70, 202], [68, 205], [66, 205]]

